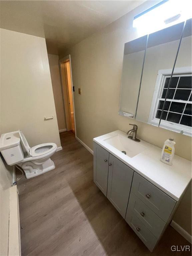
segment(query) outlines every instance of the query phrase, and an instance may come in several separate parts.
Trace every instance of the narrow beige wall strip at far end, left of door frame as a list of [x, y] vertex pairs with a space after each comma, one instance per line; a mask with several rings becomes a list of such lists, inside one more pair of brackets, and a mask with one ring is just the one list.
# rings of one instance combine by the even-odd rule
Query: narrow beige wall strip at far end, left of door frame
[[48, 54], [49, 58], [49, 67], [51, 73], [51, 82], [53, 87], [53, 95], [55, 101], [55, 109], [57, 113], [57, 122], [59, 130], [66, 129], [65, 124], [65, 113], [63, 106], [63, 96], [61, 90], [61, 80], [59, 73], [59, 56]]

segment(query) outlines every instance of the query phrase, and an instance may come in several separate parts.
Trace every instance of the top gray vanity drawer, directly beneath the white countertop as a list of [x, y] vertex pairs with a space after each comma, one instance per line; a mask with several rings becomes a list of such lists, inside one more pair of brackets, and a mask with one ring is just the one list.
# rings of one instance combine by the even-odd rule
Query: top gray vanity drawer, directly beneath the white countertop
[[176, 204], [176, 201], [152, 183], [134, 172], [131, 192], [139, 197], [152, 211], [165, 222]]

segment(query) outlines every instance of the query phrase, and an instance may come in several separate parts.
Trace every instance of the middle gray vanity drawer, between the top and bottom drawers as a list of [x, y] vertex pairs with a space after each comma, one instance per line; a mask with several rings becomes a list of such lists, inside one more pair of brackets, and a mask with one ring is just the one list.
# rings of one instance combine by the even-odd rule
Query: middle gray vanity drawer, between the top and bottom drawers
[[130, 194], [128, 211], [132, 211], [156, 238], [160, 237], [166, 223], [133, 193]]

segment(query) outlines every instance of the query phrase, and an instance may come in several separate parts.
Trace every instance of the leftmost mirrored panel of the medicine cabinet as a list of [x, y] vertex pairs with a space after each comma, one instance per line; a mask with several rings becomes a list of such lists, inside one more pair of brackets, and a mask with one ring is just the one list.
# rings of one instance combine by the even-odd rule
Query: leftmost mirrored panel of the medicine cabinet
[[147, 36], [124, 46], [119, 115], [135, 118]]

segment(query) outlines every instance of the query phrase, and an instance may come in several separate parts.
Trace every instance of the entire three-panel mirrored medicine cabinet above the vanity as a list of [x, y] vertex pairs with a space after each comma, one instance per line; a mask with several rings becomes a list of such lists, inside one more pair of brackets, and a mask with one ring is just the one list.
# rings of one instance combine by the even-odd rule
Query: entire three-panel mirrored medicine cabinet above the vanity
[[125, 43], [119, 115], [192, 135], [191, 24]]

